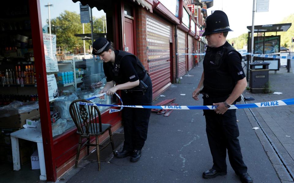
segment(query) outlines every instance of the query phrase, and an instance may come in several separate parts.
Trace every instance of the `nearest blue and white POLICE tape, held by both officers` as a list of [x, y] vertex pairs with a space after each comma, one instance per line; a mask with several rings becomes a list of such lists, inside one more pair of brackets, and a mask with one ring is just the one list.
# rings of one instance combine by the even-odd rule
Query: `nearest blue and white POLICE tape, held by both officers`
[[[106, 93], [102, 93], [99, 95], [95, 95], [86, 100], [96, 99]], [[118, 94], [115, 95], [120, 99]], [[146, 109], [181, 109], [181, 110], [192, 110], [192, 109], [216, 109], [217, 106], [125, 106], [125, 105], [108, 105], [108, 104], [95, 104], [95, 103], [88, 103], [88, 102], [80, 102], [80, 105], [89, 105], [89, 106], [107, 106], [107, 107], [121, 107], [121, 109], [110, 109], [109, 113], [119, 112], [123, 109], [123, 107], [133, 107], [133, 108], [146, 108]], [[123, 104], [123, 102], [122, 102]], [[256, 108], [256, 107], [273, 107], [273, 106], [286, 106], [286, 105], [294, 105], [294, 98], [292, 99], [284, 99], [284, 100], [275, 100], [269, 102], [259, 102], [259, 103], [251, 103], [251, 104], [236, 104], [231, 105], [229, 109], [245, 109], [245, 108]]]

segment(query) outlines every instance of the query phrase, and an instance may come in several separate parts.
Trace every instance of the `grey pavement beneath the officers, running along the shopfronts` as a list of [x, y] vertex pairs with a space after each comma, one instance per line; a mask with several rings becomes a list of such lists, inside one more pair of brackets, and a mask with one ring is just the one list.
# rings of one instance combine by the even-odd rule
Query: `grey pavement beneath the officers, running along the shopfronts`
[[[176, 98], [174, 103], [179, 105], [202, 105], [202, 99], [192, 99], [202, 70], [201, 62], [178, 84], [172, 84], [163, 93], [165, 96], [159, 97], [153, 104]], [[294, 98], [292, 70], [287, 73], [285, 68], [280, 68], [277, 74], [270, 71], [269, 81], [272, 91], [283, 94], [251, 94], [244, 91], [244, 97], [255, 98], [246, 102]], [[290, 175], [294, 170], [293, 117], [294, 106], [237, 109], [243, 160], [254, 182], [293, 182]], [[259, 128], [254, 130], [253, 127]], [[98, 171], [96, 162], [82, 160], [78, 168], [67, 172], [59, 182], [240, 182], [228, 158], [227, 175], [203, 179], [202, 172], [210, 169], [212, 164], [202, 110], [174, 110], [169, 117], [151, 114], [148, 138], [137, 163], [131, 163], [129, 157], [114, 157], [109, 162], [101, 162], [101, 171]]]

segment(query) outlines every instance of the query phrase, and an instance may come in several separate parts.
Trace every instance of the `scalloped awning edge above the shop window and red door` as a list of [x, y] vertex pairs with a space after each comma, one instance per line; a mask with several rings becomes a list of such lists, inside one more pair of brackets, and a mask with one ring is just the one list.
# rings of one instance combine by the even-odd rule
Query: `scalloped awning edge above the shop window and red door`
[[[82, 5], [89, 5], [91, 8], [96, 7], [98, 11], [101, 9], [111, 9], [115, 0], [72, 0], [73, 2], [81, 2]], [[152, 13], [152, 5], [145, 0], [133, 0], [138, 5], [141, 5], [143, 8], [147, 9]]]

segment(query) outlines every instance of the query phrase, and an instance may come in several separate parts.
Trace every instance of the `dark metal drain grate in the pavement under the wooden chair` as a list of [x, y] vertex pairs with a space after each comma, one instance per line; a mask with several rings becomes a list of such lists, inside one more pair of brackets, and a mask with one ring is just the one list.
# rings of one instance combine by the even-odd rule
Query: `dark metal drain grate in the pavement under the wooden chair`
[[[123, 133], [113, 133], [112, 139], [113, 139], [115, 151], [120, 148], [120, 146], [123, 144], [123, 141], [125, 140]], [[108, 142], [110, 142], [109, 137], [103, 142], [103, 144], [101, 144], [102, 147]], [[101, 149], [101, 147], [100, 147], [100, 149]], [[99, 149], [100, 161], [110, 161], [113, 156], [111, 144], [107, 145], [107, 147], [105, 147], [103, 150], [100, 150], [100, 149]], [[84, 160], [97, 161], [96, 150], [94, 150], [92, 153], [90, 153]]]

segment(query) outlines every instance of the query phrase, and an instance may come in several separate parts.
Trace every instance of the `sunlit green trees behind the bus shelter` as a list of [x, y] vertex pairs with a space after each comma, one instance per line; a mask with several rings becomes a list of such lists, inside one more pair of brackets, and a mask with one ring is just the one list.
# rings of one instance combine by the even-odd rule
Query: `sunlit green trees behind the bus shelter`
[[[286, 32], [277, 32], [277, 35], [281, 35], [281, 46], [289, 48], [291, 45], [291, 38], [294, 37], [294, 14], [285, 17], [281, 22], [278, 23], [292, 23], [292, 26]], [[275, 23], [275, 24], [278, 24]], [[266, 36], [276, 35], [276, 32], [267, 32]], [[254, 35], [255, 36], [255, 35]], [[242, 49], [244, 45], [247, 45], [248, 34], [241, 34], [237, 38], [228, 39], [228, 42], [232, 44], [234, 42], [235, 49]]]

